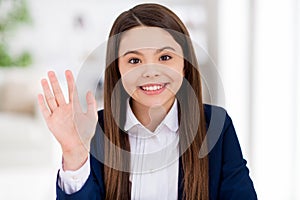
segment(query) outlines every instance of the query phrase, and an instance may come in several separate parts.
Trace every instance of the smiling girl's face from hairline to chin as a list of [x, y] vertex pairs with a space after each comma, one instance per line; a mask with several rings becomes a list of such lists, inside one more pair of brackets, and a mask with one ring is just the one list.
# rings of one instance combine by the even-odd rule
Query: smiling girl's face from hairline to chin
[[169, 109], [183, 80], [181, 46], [164, 29], [140, 26], [122, 35], [119, 71], [133, 104]]

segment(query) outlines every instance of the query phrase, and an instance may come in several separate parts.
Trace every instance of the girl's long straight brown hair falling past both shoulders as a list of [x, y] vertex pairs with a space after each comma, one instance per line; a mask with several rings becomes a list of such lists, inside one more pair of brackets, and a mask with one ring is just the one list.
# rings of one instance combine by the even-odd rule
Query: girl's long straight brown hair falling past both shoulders
[[[183, 49], [184, 78], [187, 81], [186, 84], [182, 84], [176, 94], [179, 100], [179, 149], [182, 153], [181, 160], [184, 172], [184, 179], [181, 183], [183, 184], [182, 197], [183, 199], [209, 199], [208, 157], [199, 158], [198, 156], [201, 144], [205, 142], [206, 122], [197, 60], [186, 27], [171, 10], [164, 6], [158, 4], [137, 5], [119, 15], [112, 26], [107, 45], [107, 68], [104, 81], [105, 135], [113, 145], [130, 152], [128, 135], [120, 128], [125, 122], [125, 100], [129, 96], [122, 84], [118, 85], [121, 75], [117, 58], [121, 33], [137, 26], [159, 27], [182, 33], [185, 36], [178, 37], [170, 31], [175, 41]], [[188, 85], [193, 91], [187, 88]], [[196, 96], [196, 100], [189, 98], [192, 95]], [[194, 120], [197, 119], [197, 116], [200, 122]], [[197, 133], [192, 133], [193, 130], [196, 130]], [[186, 149], [187, 145], [188, 148]], [[122, 156], [121, 150], [112, 148], [111, 144], [107, 142], [105, 143], [105, 163], [112, 165], [117, 163], [122, 169], [130, 168], [130, 159]], [[104, 166], [106, 199], [128, 200], [131, 197], [130, 173], [127, 170], [119, 169], [115, 169], [111, 165]]]

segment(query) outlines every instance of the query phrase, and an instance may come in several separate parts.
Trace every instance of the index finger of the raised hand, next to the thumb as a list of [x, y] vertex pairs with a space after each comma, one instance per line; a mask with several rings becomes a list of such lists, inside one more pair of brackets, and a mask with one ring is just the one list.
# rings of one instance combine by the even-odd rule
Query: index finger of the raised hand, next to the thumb
[[75, 112], [81, 112], [81, 106], [80, 106], [77, 87], [75, 85], [73, 74], [70, 70], [66, 70], [65, 74], [68, 83], [69, 102], [73, 104], [73, 108]]

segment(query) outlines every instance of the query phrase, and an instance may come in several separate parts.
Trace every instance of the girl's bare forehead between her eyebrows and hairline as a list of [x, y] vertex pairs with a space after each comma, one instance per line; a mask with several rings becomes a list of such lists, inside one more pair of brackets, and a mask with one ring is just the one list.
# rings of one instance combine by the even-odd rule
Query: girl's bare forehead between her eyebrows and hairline
[[158, 27], [140, 26], [122, 33], [119, 55], [138, 49], [172, 47], [182, 54], [181, 46], [169, 32]]

